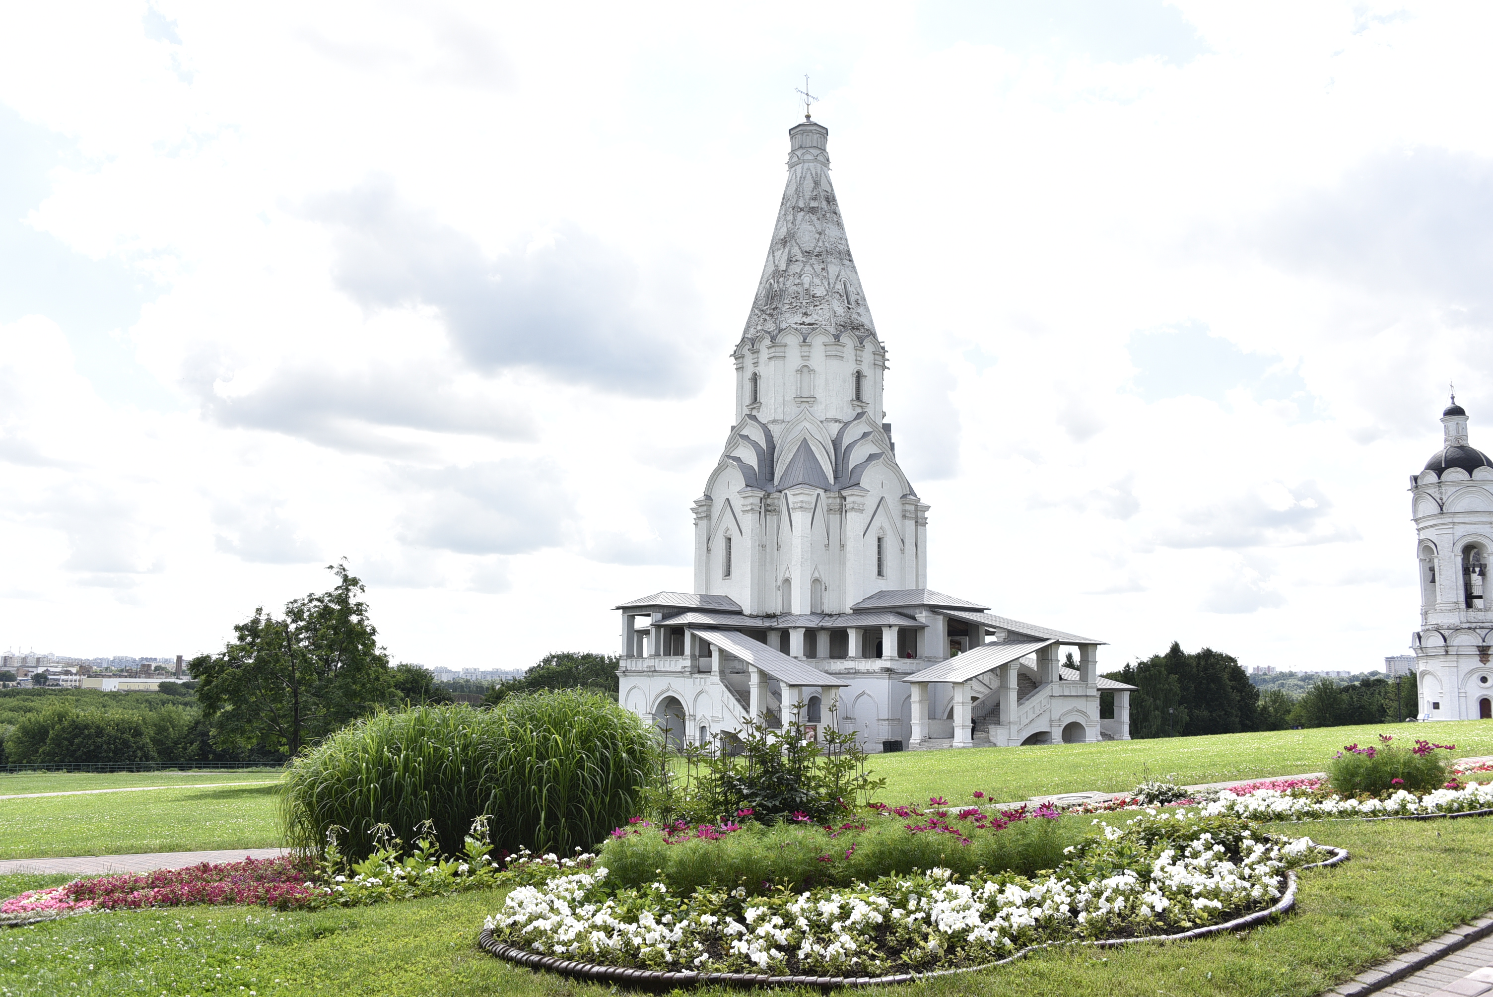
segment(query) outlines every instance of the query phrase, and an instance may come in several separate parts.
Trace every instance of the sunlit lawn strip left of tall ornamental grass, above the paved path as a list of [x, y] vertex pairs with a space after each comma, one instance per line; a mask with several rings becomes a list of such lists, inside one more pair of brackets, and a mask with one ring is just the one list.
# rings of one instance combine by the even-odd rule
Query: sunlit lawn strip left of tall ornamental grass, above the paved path
[[267, 848], [279, 845], [275, 794], [248, 785], [0, 800], [0, 858]]

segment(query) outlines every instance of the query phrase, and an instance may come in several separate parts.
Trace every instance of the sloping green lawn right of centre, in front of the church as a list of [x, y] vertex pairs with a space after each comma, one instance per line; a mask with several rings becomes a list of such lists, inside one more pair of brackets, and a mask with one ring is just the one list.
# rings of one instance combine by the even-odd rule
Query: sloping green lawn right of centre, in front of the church
[[1123, 793], [1145, 778], [1197, 785], [1323, 772], [1333, 752], [1344, 745], [1378, 743], [1378, 734], [1456, 745], [1459, 757], [1493, 755], [1493, 721], [1472, 719], [1106, 740], [1094, 745], [908, 751], [873, 755], [870, 767], [887, 779], [881, 794], [887, 803], [923, 801], [932, 794], [957, 803], [967, 800], [975, 790], [996, 800], [1027, 800], [1088, 790]]

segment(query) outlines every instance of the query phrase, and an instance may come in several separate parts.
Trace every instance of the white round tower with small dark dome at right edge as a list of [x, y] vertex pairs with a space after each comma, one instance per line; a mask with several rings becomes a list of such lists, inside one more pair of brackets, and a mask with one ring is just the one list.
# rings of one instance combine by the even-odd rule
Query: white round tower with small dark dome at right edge
[[1420, 630], [1411, 637], [1420, 719], [1493, 719], [1493, 461], [1468, 445], [1468, 413], [1441, 413], [1442, 448], [1411, 475]]

